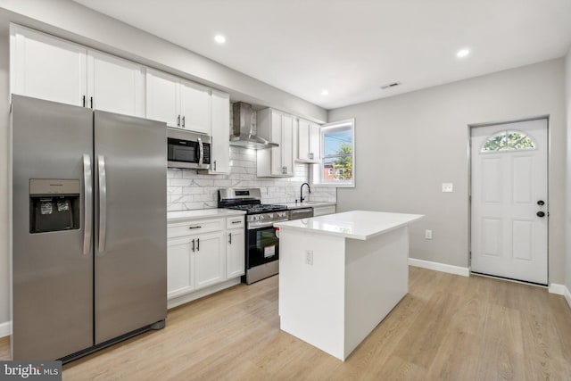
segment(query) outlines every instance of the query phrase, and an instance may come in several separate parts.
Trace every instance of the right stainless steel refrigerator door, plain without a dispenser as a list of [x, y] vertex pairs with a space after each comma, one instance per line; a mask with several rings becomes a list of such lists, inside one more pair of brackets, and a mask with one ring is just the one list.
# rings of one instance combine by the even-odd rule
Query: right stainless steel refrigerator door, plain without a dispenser
[[95, 111], [95, 344], [167, 315], [166, 124]]

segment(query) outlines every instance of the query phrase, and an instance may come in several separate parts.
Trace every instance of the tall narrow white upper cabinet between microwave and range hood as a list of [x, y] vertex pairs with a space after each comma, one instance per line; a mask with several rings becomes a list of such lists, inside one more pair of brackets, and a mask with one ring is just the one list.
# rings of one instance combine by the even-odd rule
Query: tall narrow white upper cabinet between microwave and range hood
[[230, 173], [230, 95], [212, 90], [211, 174]]

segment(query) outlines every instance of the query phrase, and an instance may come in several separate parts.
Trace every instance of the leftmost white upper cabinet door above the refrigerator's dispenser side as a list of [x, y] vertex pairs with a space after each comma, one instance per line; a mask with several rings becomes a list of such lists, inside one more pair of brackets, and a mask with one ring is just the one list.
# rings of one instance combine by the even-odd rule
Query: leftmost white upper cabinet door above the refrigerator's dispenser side
[[11, 24], [11, 92], [85, 105], [87, 49]]

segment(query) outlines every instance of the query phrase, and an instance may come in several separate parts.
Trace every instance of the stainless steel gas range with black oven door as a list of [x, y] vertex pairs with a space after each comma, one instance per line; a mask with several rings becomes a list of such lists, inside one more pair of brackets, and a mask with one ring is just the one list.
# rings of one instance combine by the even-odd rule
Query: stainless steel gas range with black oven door
[[248, 285], [279, 271], [279, 238], [274, 222], [289, 219], [285, 205], [261, 203], [260, 188], [219, 189], [219, 208], [246, 211], [245, 275]]

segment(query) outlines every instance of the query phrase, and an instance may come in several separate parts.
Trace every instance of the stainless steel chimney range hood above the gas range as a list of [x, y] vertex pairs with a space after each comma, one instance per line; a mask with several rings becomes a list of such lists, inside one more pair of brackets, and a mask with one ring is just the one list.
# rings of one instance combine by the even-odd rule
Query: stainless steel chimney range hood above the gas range
[[256, 135], [256, 127], [252, 125], [252, 105], [236, 102], [232, 105], [234, 112], [234, 135], [230, 136], [230, 145], [237, 145], [255, 150], [277, 147], [277, 143], [269, 142]]

